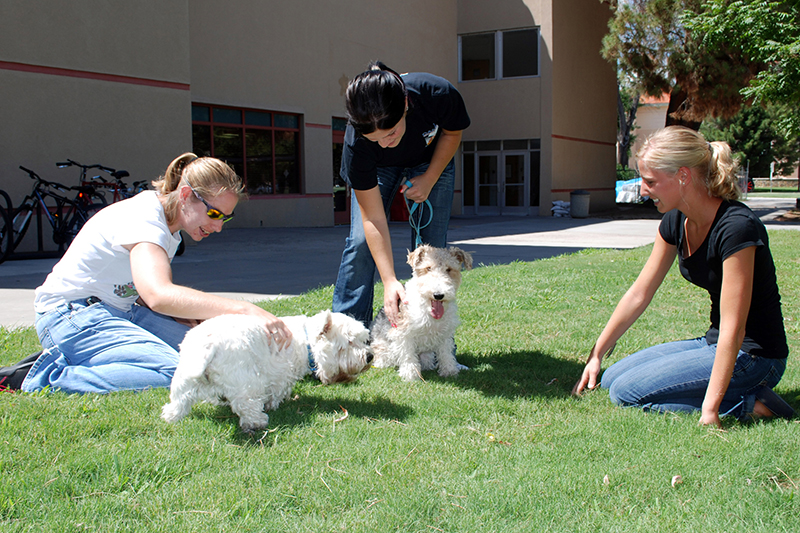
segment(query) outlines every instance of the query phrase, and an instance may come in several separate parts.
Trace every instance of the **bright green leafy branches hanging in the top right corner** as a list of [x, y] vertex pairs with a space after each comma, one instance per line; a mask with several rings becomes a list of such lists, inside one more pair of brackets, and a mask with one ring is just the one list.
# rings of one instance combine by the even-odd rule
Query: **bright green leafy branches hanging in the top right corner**
[[754, 103], [785, 104], [781, 126], [800, 133], [800, 0], [709, 0], [685, 24], [708, 48], [725, 46], [764, 68], [741, 90]]

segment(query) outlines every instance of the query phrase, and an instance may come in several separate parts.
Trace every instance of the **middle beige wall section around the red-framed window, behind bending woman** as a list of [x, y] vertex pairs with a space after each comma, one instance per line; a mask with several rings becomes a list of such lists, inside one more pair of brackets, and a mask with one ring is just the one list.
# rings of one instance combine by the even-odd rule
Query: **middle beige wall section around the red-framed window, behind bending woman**
[[455, 83], [456, 1], [242, 0], [236, 8], [216, 0], [190, 4], [192, 99], [303, 115], [304, 192], [329, 195], [252, 198], [237, 210], [237, 223], [251, 225], [269, 210], [270, 225], [331, 225], [329, 127], [332, 117], [345, 115], [348, 81], [380, 59], [399, 72], [431, 72]]

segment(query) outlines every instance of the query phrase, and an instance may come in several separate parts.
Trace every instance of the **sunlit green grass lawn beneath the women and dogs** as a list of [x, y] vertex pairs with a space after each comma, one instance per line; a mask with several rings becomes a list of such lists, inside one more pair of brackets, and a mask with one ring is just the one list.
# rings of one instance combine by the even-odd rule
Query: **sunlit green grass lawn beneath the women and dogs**
[[[776, 390], [798, 409], [800, 232], [770, 237], [791, 350]], [[306, 379], [255, 436], [228, 408], [207, 404], [167, 424], [159, 418], [167, 390], [0, 394], [0, 526], [797, 531], [800, 423], [725, 420], [720, 431], [698, 426], [696, 414], [614, 407], [604, 390], [570, 396], [649, 251], [590, 250], [465, 272], [456, 341], [471, 370], [448, 379], [427, 372], [416, 383], [393, 369], [371, 369], [350, 385]], [[331, 296], [328, 287], [264, 306], [314, 313]], [[708, 313], [705, 293], [673, 268], [611, 362], [701, 335]], [[36, 349], [32, 330], [0, 330], [0, 363]]]

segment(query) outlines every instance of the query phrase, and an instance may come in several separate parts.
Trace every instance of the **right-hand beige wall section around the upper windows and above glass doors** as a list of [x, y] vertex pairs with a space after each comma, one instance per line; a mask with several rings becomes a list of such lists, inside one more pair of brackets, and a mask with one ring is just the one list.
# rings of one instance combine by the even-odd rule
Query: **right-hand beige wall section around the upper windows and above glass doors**
[[614, 202], [616, 76], [600, 56], [611, 12], [597, 0], [460, 0], [459, 34], [539, 27], [539, 76], [462, 82], [467, 140], [541, 139], [540, 215], [569, 191]]

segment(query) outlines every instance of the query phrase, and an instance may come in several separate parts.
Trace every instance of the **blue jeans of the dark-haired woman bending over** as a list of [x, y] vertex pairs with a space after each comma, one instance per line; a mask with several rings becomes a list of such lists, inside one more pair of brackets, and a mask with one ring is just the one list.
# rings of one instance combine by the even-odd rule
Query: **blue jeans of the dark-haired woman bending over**
[[[405, 183], [406, 179], [419, 176], [427, 169], [427, 163], [413, 168], [378, 168], [378, 187], [387, 217], [389, 207], [400, 186]], [[447, 226], [450, 223], [450, 210], [453, 206], [454, 186], [455, 163], [451, 160], [428, 196], [433, 210], [433, 218], [430, 224], [420, 231], [423, 243], [437, 248], [443, 248], [447, 244]], [[425, 204], [421, 204], [413, 216], [419, 217], [420, 215], [422, 215], [420, 225], [424, 225], [430, 217], [430, 212]], [[416, 231], [411, 231], [410, 242], [410, 249], [413, 250], [416, 248]], [[333, 311], [348, 314], [369, 327], [372, 321], [375, 270], [375, 261], [364, 236], [361, 210], [358, 207], [355, 192], [353, 192], [350, 207], [350, 236], [345, 241], [339, 275], [333, 291]]]

